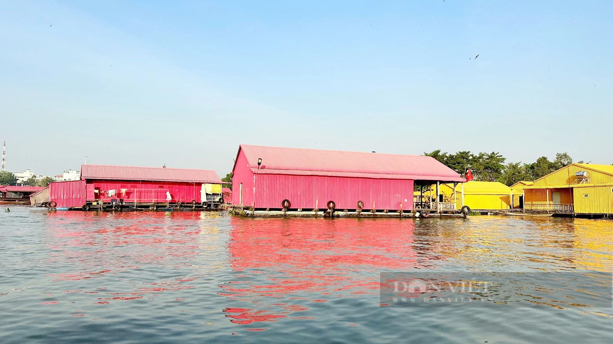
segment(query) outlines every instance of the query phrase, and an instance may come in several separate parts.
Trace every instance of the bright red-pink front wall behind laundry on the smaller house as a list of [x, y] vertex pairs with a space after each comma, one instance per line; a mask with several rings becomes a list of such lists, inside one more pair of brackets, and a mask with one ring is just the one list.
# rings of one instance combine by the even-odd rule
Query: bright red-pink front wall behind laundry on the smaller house
[[[94, 192], [94, 190], [100, 192]], [[121, 192], [125, 189], [125, 192]], [[107, 196], [109, 190], [116, 190], [116, 195]], [[166, 202], [166, 192], [170, 192], [170, 202], [200, 203], [202, 183], [187, 182], [135, 182], [135, 181], [87, 181], [87, 200], [110, 202], [112, 198], [123, 198], [124, 202]]]

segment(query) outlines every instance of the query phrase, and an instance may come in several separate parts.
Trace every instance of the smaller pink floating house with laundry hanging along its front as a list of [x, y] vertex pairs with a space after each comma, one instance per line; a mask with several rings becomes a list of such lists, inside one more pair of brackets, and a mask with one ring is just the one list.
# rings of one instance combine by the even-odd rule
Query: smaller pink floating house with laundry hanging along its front
[[51, 182], [53, 208], [216, 208], [221, 179], [212, 170], [82, 165], [78, 181]]

